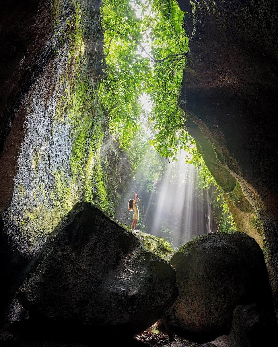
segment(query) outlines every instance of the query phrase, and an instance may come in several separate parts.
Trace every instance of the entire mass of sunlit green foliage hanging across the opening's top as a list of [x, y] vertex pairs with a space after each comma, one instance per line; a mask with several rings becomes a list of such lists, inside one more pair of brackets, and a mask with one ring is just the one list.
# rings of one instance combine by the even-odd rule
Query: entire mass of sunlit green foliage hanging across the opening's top
[[[140, 18], [136, 11], [141, 11]], [[179, 150], [187, 151], [187, 162], [200, 168], [206, 187], [213, 178], [187, 133], [185, 114], [178, 105], [188, 50], [183, 15], [176, 0], [103, 2], [105, 54], [100, 102], [108, 125], [127, 148], [140, 123], [138, 98], [149, 94], [153, 103], [147, 115], [154, 130], [151, 144], [169, 160], [177, 160]]]

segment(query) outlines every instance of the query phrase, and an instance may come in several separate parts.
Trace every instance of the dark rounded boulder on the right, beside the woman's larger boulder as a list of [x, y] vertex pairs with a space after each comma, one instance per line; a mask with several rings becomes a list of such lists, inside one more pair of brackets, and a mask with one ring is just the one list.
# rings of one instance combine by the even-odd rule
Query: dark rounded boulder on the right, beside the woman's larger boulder
[[237, 305], [270, 305], [263, 253], [243, 232], [194, 238], [172, 256], [179, 296], [166, 312], [170, 327], [197, 340], [227, 335]]

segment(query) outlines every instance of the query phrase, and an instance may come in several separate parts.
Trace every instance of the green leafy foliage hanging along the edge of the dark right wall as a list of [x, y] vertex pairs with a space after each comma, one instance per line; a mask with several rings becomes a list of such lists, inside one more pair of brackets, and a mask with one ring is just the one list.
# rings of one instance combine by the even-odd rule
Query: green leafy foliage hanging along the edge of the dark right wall
[[155, 19], [149, 37], [155, 58], [150, 93], [154, 108], [150, 119], [157, 132], [152, 144], [162, 156], [176, 159], [179, 149], [185, 149], [192, 141], [185, 129], [185, 115], [178, 106], [188, 42], [182, 27], [183, 12], [176, 1], [163, 5], [153, 1], [152, 9]]

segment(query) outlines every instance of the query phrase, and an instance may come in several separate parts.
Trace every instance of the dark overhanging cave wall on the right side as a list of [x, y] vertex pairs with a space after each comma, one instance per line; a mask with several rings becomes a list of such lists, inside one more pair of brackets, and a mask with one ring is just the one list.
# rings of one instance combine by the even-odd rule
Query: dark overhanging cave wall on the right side
[[[211, 145], [214, 162], [239, 183], [262, 223], [277, 300], [278, 2], [178, 2], [189, 13], [185, 29], [191, 39], [180, 107]], [[202, 150], [208, 162], [205, 147]]]

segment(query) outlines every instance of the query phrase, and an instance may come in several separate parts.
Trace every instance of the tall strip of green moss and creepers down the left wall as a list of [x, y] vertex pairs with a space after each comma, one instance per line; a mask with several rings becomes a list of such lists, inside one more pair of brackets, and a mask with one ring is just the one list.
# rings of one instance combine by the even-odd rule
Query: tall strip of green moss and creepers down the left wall
[[[68, 37], [72, 40], [68, 53], [66, 79], [60, 78], [60, 84], [65, 82], [63, 92], [57, 100], [55, 122], [64, 121], [67, 112], [70, 125], [73, 147], [70, 157], [70, 170], [72, 174], [71, 185], [78, 186], [79, 197], [84, 201], [95, 203], [103, 208], [108, 208], [106, 187], [103, 183], [103, 170], [101, 167], [100, 149], [103, 140], [101, 116], [98, 109], [98, 87], [92, 77], [87, 76], [87, 58], [84, 55], [84, 33], [86, 23], [89, 22], [89, 13], [84, 13], [81, 6], [73, 1], [75, 15], [67, 21], [70, 30]], [[55, 174], [58, 175], [57, 172]], [[59, 205], [60, 198], [68, 201], [69, 186], [59, 187], [52, 191], [52, 200]], [[56, 192], [56, 189], [58, 191]], [[94, 194], [95, 192], [95, 194]], [[56, 194], [54, 198], [53, 195]], [[66, 204], [68, 205], [68, 204]], [[59, 210], [66, 211], [67, 206], [58, 206]]]

